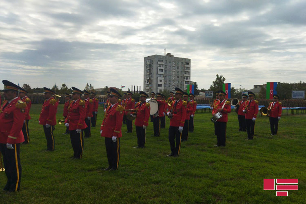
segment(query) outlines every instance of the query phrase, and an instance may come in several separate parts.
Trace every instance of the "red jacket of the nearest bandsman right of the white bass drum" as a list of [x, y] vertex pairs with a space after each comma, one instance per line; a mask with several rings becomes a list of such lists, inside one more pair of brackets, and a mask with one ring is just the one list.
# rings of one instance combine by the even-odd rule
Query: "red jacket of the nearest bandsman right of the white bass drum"
[[182, 101], [181, 99], [177, 102], [176, 105], [175, 105], [175, 102], [176, 101], [173, 101], [171, 103], [170, 110], [172, 110], [173, 117], [170, 119], [170, 126], [184, 127], [186, 114], [187, 114], [186, 112], [187, 103]]

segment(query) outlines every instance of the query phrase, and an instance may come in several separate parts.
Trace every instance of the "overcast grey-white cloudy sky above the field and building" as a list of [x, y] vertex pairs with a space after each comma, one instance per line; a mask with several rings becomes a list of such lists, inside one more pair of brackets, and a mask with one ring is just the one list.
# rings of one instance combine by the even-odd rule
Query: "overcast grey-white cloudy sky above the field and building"
[[236, 88], [306, 76], [306, 1], [2, 0], [0, 79], [143, 87], [143, 57], [191, 58], [191, 80]]

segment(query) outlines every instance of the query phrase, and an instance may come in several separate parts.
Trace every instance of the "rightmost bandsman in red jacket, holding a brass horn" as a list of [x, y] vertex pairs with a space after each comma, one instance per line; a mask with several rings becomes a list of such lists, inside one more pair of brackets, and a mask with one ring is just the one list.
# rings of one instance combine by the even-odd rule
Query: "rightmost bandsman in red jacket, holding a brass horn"
[[278, 130], [278, 121], [281, 119], [282, 116], [282, 103], [278, 102], [279, 96], [274, 94], [273, 95], [273, 102], [270, 102], [268, 109], [270, 110], [269, 113], [269, 121], [270, 121], [270, 128], [271, 128], [271, 135], [276, 135]]

